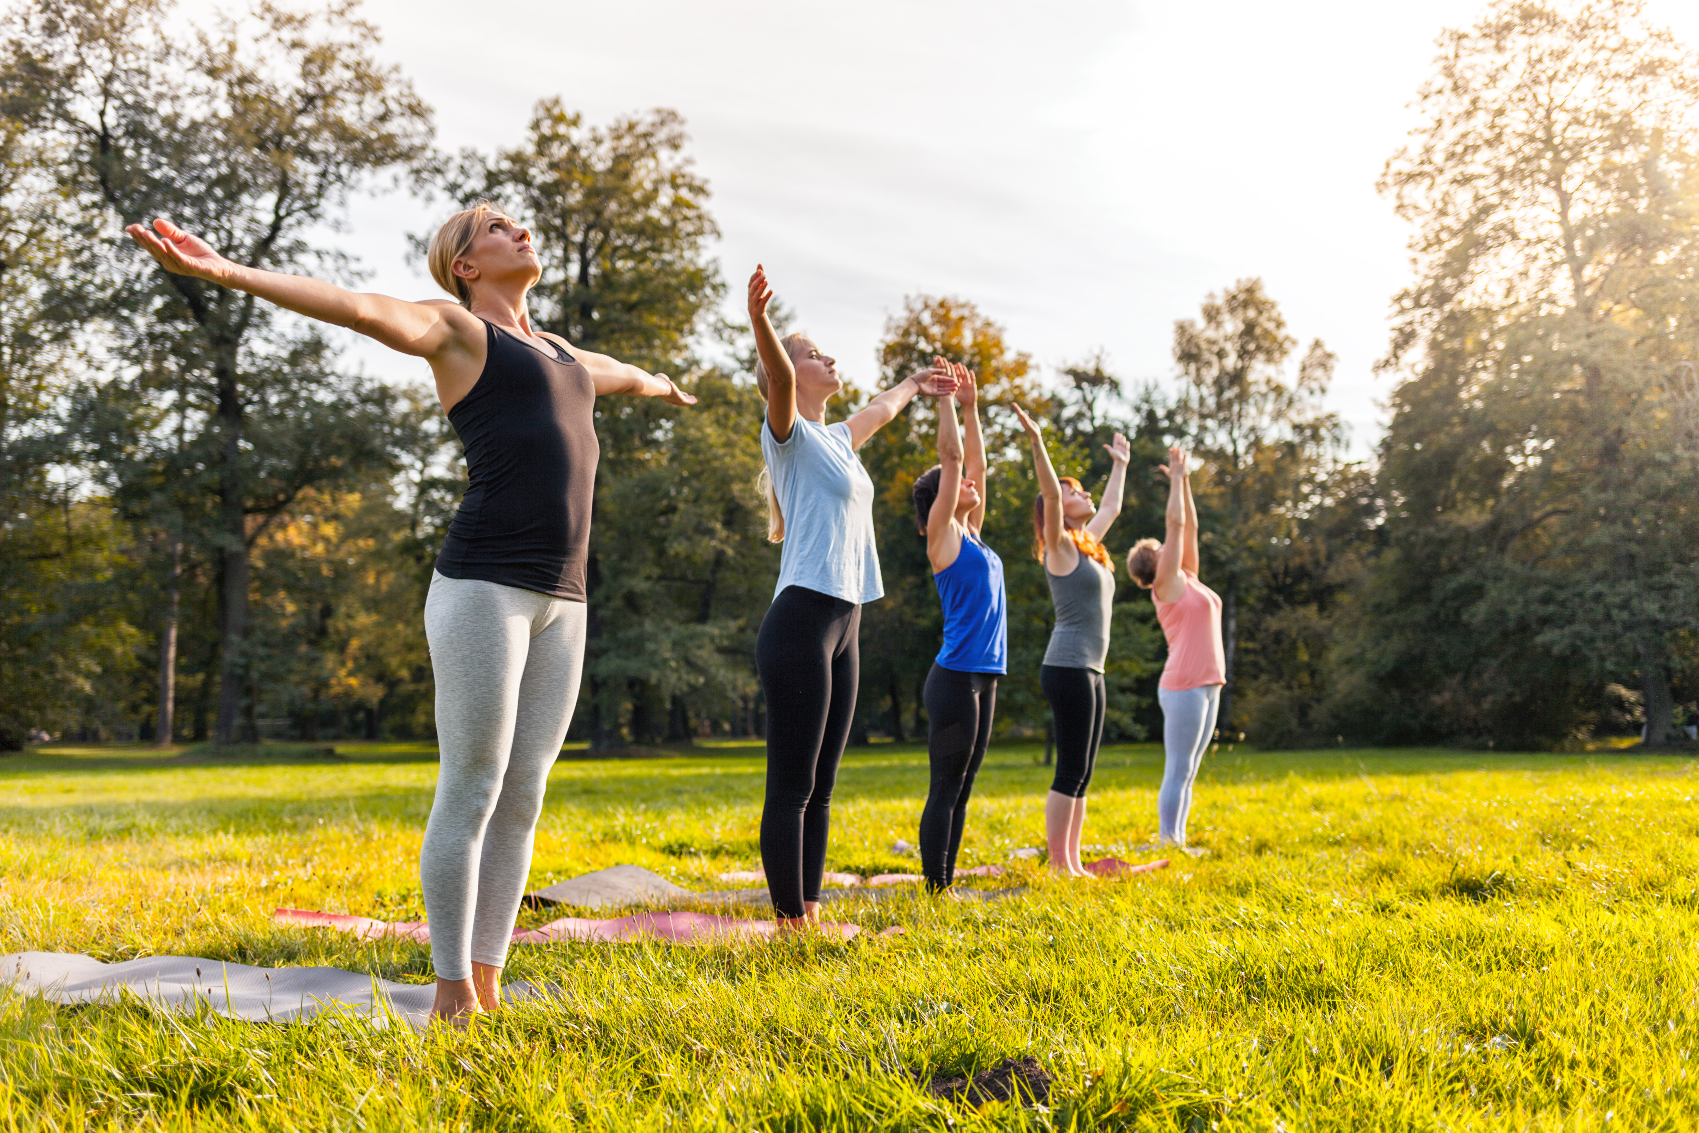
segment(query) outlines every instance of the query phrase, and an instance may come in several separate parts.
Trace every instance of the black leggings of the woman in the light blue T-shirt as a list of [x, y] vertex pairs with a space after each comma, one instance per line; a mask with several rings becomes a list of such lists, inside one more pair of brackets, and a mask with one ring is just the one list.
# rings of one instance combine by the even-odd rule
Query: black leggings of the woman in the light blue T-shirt
[[754, 668], [766, 696], [761, 866], [773, 909], [800, 917], [821, 899], [838, 761], [861, 676], [861, 606], [787, 586], [761, 618]]

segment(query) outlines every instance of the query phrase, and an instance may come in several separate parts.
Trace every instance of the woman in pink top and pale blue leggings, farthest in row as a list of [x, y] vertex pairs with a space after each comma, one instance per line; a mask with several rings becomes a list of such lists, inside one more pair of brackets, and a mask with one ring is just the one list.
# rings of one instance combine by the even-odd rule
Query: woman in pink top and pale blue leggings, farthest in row
[[1162, 465], [1169, 477], [1167, 538], [1140, 538], [1126, 555], [1126, 572], [1150, 591], [1157, 620], [1169, 642], [1167, 666], [1157, 686], [1162, 703], [1162, 744], [1167, 761], [1157, 793], [1157, 846], [1179, 846], [1193, 856], [1206, 849], [1186, 846], [1191, 783], [1215, 736], [1215, 712], [1227, 683], [1222, 649], [1222, 600], [1198, 581], [1198, 508], [1186, 479], [1186, 454], [1169, 448]]

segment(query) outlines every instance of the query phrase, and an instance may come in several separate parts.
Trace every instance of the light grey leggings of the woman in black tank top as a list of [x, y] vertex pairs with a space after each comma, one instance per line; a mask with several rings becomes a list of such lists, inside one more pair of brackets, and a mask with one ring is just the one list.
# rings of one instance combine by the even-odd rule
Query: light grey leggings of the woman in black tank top
[[442, 769], [420, 878], [437, 978], [501, 967], [549, 768], [584, 671], [584, 603], [432, 574], [425, 639]]

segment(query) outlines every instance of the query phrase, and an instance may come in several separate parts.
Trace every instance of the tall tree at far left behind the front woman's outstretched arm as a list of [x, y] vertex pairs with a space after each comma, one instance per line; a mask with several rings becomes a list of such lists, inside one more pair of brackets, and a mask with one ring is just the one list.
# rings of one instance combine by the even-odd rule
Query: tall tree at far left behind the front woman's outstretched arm
[[[63, 183], [126, 223], [170, 216], [224, 255], [270, 270], [333, 270], [311, 236], [347, 194], [426, 153], [430, 114], [372, 54], [377, 32], [338, 0], [173, 39], [156, 0], [36, 0], [14, 14], [0, 75], [15, 121], [63, 146]], [[216, 739], [243, 703], [248, 555], [265, 518], [301, 491], [381, 457], [364, 384], [328, 374], [316, 331], [251, 296], [170, 275], [136, 255], [88, 251], [87, 279], [127, 324], [116, 350], [146, 386], [158, 340], [182, 364], [216, 481]], [[250, 523], [250, 516], [262, 516]]]

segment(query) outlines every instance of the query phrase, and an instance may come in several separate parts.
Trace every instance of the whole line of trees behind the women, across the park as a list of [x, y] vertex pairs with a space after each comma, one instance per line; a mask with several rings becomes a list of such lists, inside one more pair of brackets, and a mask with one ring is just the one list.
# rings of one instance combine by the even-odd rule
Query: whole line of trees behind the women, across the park
[[[432, 734], [420, 613], [464, 482], [435, 397], [119, 240], [168, 216], [234, 260], [352, 282], [343, 207], [384, 187], [445, 212], [503, 202], [537, 233], [542, 328], [686, 375], [702, 399], [598, 409], [574, 737], [761, 734], [753, 645], [778, 567], [754, 491], [761, 403], [748, 328], [720, 314], [683, 119], [595, 126], [547, 99], [515, 148], [443, 155], [375, 44], [350, 3], [255, 3], [187, 31], [158, 0], [5, 17], [0, 747], [36, 729]], [[1371, 460], [1346, 457], [1324, 408], [1334, 357], [1300, 347], [1257, 279], [1176, 324], [1166, 386], [1084, 352], [1047, 380], [963, 297], [909, 296], [890, 318], [880, 382], [934, 353], [982, 379], [985, 535], [1009, 566], [999, 727], [1047, 724], [1050, 596], [1006, 411], [1021, 401], [1092, 493], [1103, 445], [1132, 440], [1118, 555], [1162, 532], [1166, 445], [1198, 452], [1223, 741], [1680, 741], [1699, 702], [1699, 71], [1634, 0], [1500, 0], [1439, 46], [1383, 177], [1414, 224], [1414, 279]], [[909, 489], [933, 423], [917, 403], [863, 450], [887, 596], [865, 613], [860, 739], [924, 734], [941, 629]], [[1149, 737], [1162, 635], [1116, 574], [1109, 732]]]

